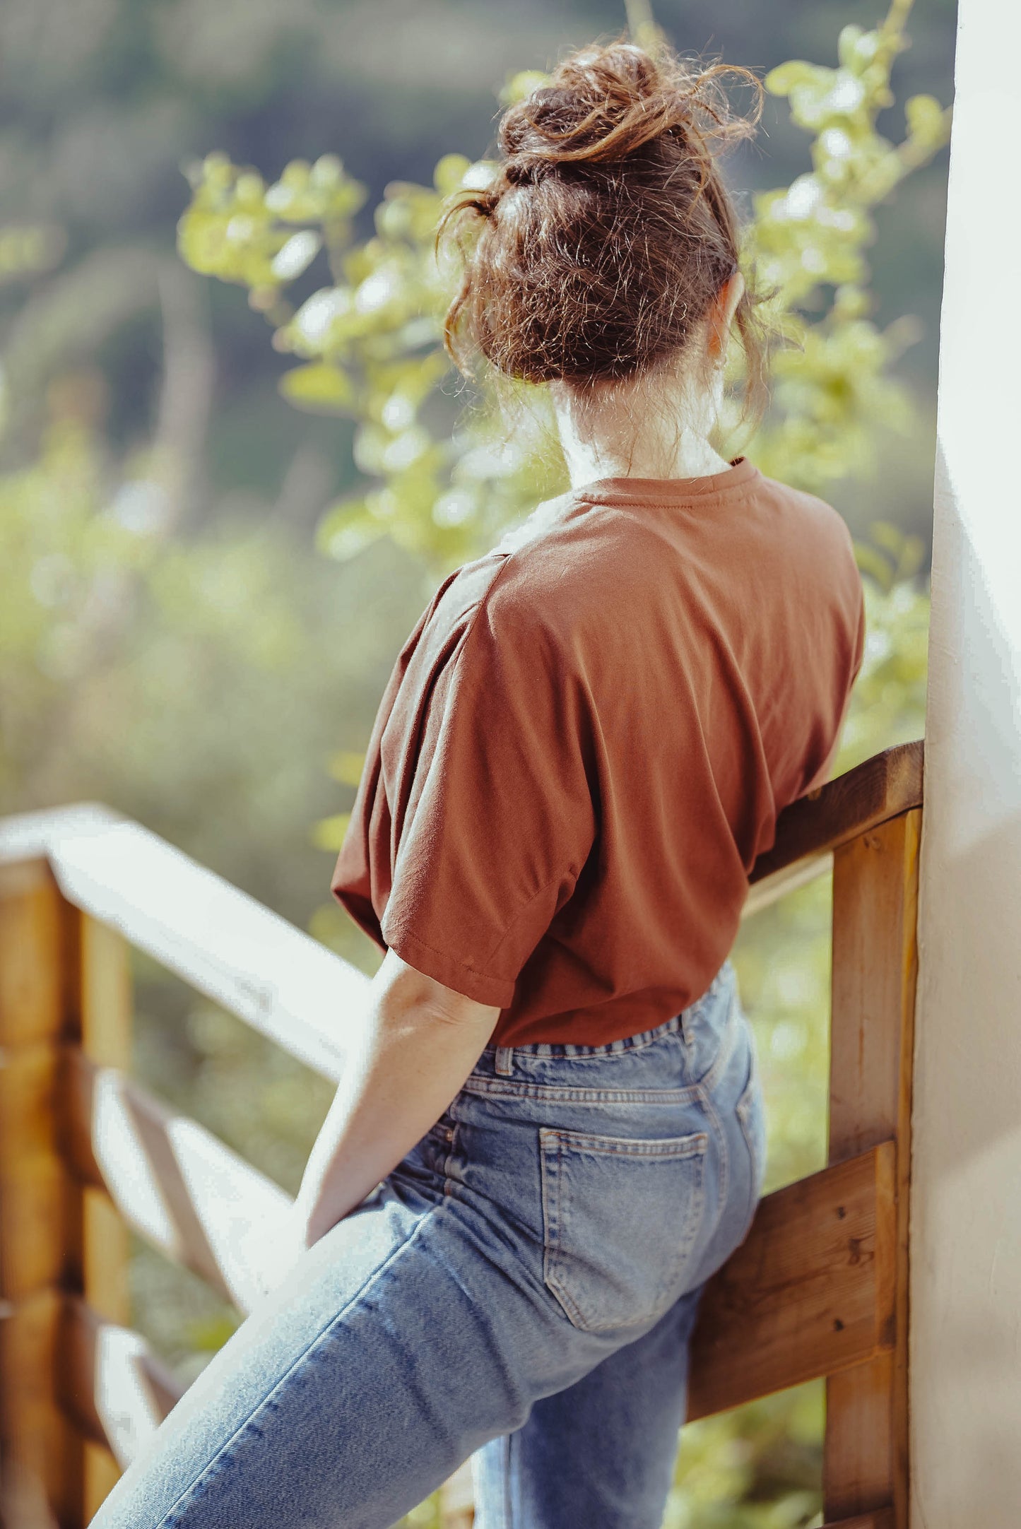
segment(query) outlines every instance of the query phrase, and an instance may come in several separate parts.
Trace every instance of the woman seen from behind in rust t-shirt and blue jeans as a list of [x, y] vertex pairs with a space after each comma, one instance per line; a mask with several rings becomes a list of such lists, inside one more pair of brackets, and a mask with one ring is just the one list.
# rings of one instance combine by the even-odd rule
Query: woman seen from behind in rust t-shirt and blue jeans
[[455, 209], [448, 342], [552, 385], [572, 486], [397, 657], [333, 879], [385, 959], [301, 1254], [102, 1529], [387, 1529], [469, 1456], [480, 1529], [660, 1523], [763, 1182], [728, 953], [864, 644], [838, 514], [709, 445], [732, 324], [760, 364], [715, 92], [576, 54]]

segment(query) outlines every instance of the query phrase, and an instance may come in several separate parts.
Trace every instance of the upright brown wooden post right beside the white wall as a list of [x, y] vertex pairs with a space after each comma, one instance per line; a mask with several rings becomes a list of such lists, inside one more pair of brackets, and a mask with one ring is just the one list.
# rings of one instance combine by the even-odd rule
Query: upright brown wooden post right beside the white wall
[[908, 1191], [922, 809], [833, 861], [830, 1162], [897, 1144], [894, 1346], [827, 1381], [827, 1523], [893, 1509], [908, 1529]]

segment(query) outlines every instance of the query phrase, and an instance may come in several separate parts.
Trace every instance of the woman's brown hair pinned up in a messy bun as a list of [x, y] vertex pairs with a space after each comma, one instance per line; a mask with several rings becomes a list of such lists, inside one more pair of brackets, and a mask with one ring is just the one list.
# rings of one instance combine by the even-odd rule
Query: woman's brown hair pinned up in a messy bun
[[[754, 90], [732, 115], [723, 78]], [[679, 353], [738, 266], [738, 222], [717, 150], [750, 136], [763, 89], [747, 69], [654, 58], [624, 40], [566, 58], [501, 121], [498, 173], [463, 191], [440, 235], [471, 216], [445, 323], [457, 365], [478, 349], [501, 372], [575, 385], [639, 376]], [[440, 237], [437, 235], [437, 239]], [[735, 324], [746, 404], [761, 390], [754, 291]]]

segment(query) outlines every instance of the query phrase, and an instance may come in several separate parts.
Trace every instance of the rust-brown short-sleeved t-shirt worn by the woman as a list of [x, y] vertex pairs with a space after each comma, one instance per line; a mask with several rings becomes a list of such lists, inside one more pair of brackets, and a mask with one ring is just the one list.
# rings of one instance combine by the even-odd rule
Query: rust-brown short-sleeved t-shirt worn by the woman
[[604, 1044], [709, 986], [778, 812], [828, 778], [865, 639], [844, 520], [746, 457], [540, 505], [437, 589], [332, 890], [385, 950]]

